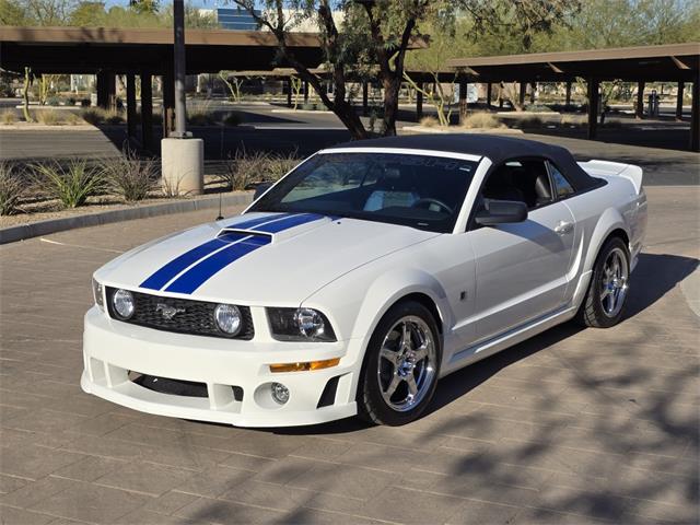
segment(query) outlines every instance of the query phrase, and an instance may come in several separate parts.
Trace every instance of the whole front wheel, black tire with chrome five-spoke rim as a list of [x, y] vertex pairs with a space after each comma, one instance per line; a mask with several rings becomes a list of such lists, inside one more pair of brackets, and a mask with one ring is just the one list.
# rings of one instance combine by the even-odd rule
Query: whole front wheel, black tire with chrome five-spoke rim
[[392, 307], [364, 358], [358, 385], [360, 416], [392, 427], [417, 419], [435, 392], [440, 354], [438, 325], [425, 306], [410, 301]]

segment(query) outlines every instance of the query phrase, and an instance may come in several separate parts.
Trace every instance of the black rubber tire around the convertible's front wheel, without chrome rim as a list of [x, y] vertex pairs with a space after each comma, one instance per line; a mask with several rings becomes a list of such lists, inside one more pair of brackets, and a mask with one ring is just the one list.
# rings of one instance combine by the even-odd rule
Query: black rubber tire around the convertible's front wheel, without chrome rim
[[[411, 324], [410, 319], [421, 319], [422, 324], [413, 323]], [[408, 319], [408, 320], [406, 320]], [[384, 398], [383, 389], [381, 382], [382, 376], [386, 377], [386, 374], [382, 373], [383, 364], [387, 363], [381, 361], [380, 352], [382, 350], [385, 338], [389, 337], [392, 334], [398, 335], [398, 331], [393, 331], [397, 324], [408, 323], [413, 326], [418, 331], [411, 331], [411, 336], [409, 336], [413, 341], [418, 340], [419, 334], [425, 332], [425, 328], [430, 330], [430, 337], [432, 338], [432, 342], [434, 345], [434, 351], [432, 354], [429, 354], [425, 358], [425, 361], [421, 361], [423, 366], [425, 366], [425, 371], [431, 370], [432, 373], [430, 376], [425, 375], [425, 383], [420, 383], [420, 377], [422, 377], [422, 372], [419, 370], [421, 366], [420, 363], [411, 366], [411, 371], [408, 372], [411, 376], [413, 376], [413, 385], [423, 385], [418, 393], [420, 395], [420, 399], [415, 402], [415, 405], [409, 408], [404, 408], [402, 410], [398, 410], [393, 408]], [[396, 339], [394, 342], [398, 342]], [[422, 348], [422, 347], [421, 347]], [[416, 349], [418, 351], [420, 349]], [[401, 355], [400, 351], [397, 351], [397, 355]], [[432, 359], [431, 357], [432, 355]], [[401, 424], [409, 423], [417, 418], [425, 410], [428, 405], [430, 404], [434, 393], [435, 387], [438, 385], [438, 377], [440, 376], [440, 360], [442, 358], [442, 340], [440, 337], [440, 331], [438, 329], [438, 324], [433, 318], [433, 315], [430, 311], [423, 306], [422, 304], [415, 301], [406, 301], [396, 304], [393, 306], [380, 320], [376, 326], [372, 338], [370, 339], [370, 343], [368, 346], [364, 361], [362, 363], [362, 371], [360, 373], [360, 381], [358, 383], [358, 413], [359, 416], [372, 423], [375, 424], [386, 424], [389, 427], [398, 427]], [[400, 359], [399, 359], [400, 361]], [[431, 362], [434, 361], [434, 362]], [[402, 361], [405, 363], [405, 361]], [[430, 363], [430, 366], [429, 364]], [[394, 374], [397, 375], [400, 366], [396, 363], [388, 363], [393, 370]], [[408, 374], [405, 373], [404, 377], [408, 377]], [[418, 375], [418, 380], [416, 380], [416, 374]], [[389, 375], [390, 380], [393, 380], [393, 375]], [[386, 380], [389, 381], [390, 380]], [[401, 380], [406, 381], [406, 380]], [[402, 388], [402, 386], [399, 386]], [[410, 394], [409, 385], [406, 383], [406, 393]], [[424, 388], [424, 389], [423, 389]], [[388, 388], [387, 388], [388, 389]], [[395, 394], [400, 397], [399, 388], [396, 388]], [[418, 397], [418, 396], [416, 396]], [[389, 399], [392, 401], [392, 399]]]

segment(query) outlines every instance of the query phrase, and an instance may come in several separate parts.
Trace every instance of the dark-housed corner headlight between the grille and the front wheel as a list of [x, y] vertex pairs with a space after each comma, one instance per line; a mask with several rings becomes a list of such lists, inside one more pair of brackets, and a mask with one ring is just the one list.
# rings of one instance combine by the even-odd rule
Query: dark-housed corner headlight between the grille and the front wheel
[[272, 337], [280, 341], [335, 341], [324, 314], [312, 308], [267, 308]]

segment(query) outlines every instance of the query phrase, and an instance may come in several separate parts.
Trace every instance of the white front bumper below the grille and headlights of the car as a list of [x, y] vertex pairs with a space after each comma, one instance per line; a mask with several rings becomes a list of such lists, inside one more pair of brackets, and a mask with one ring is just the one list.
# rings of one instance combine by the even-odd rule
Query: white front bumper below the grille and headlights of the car
[[[93, 306], [84, 319], [80, 385], [103, 399], [161, 416], [237, 427], [314, 424], [357, 413], [352, 392], [355, 363], [348, 362], [346, 350], [343, 341], [290, 343], [276, 341], [265, 332], [256, 332], [252, 341], [172, 334], [113, 320]], [[332, 358], [341, 359], [330, 369], [269, 371], [271, 363]], [[129, 373], [200, 383], [206, 385], [206, 397], [155, 392], [131, 381]], [[326, 395], [327, 406], [319, 407], [331, 380], [337, 385], [335, 397], [327, 405]], [[272, 399], [272, 382], [289, 388], [287, 404]]]

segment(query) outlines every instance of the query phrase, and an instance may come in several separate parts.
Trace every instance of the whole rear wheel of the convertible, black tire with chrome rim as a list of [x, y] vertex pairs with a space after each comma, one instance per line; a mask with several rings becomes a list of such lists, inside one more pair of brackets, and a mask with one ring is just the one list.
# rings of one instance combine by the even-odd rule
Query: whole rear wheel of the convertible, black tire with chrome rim
[[609, 328], [622, 318], [629, 291], [630, 256], [620, 237], [610, 237], [598, 254], [588, 291], [576, 319], [595, 328]]

